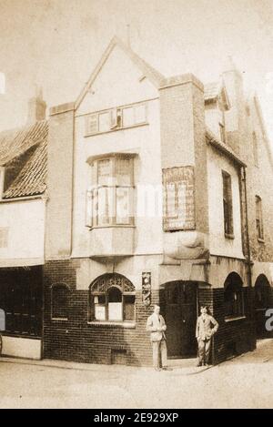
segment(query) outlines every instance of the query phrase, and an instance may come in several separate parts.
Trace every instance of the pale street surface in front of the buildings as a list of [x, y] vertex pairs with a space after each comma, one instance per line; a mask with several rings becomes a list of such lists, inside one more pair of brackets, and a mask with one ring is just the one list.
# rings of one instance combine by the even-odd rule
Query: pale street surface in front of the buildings
[[273, 340], [217, 366], [173, 371], [0, 359], [0, 408], [272, 408]]

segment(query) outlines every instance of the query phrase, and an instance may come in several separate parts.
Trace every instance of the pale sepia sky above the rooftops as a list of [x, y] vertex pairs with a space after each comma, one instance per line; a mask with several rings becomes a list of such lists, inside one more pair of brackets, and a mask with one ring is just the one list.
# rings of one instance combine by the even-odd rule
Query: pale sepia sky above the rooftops
[[115, 35], [165, 76], [215, 81], [232, 56], [273, 140], [273, 0], [0, 0], [0, 130], [24, 126], [35, 86], [75, 101]]

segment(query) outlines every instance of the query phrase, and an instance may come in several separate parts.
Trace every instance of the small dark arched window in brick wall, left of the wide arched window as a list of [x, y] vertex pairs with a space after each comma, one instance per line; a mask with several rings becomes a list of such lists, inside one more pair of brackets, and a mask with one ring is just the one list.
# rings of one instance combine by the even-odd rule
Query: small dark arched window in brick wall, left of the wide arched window
[[51, 289], [51, 318], [67, 320], [68, 318], [68, 288], [66, 284], [58, 283]]

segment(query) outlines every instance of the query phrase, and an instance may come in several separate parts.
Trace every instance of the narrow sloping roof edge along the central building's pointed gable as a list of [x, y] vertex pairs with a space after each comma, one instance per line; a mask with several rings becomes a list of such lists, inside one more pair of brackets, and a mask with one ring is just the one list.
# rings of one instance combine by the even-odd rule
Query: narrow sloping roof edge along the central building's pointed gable
[[111, 52], [113, 51], [113, 49], [116, 46], [120, 47], [123, 50], [123, 52], [125, 52], [126, 55], [131, 58], [133, 63], [136, 64], [136, 66], [139, 68], [139, 70], [143, 73], [143, 76], [146, 76], [151, 81], [151, 83], [153, 85], [155, 85], [157, 88], [162, 86], [162, 84], [165, 80], [165, 77], [161, 73], [159, 73], [155, 68], [153, 68], [152, 66], [147, 64], [147, 62], [144, 59], [142, 59], [140, 56], [136, 55], [136, 53], [129, 46], [126, 46], [118, 37], [115, 36], [112, 38], [110, 44], [106, 48], [104, 55], [101, 57], [101, 59], [100, 59], [99, 63], [97, 64], [95, 70], [93, 71], [93, 73], [89, 77], [89, 79], [86, 83], [86, 86], [83, 88], [79, 97], [76, 99], [76, 106], [75, 106], [76, 108], [82, 102], [83, 98], [86, 95], [86, 92], [88, 91], [88, 89], [90, 88], [92, 83], [95, 81], [96, 76], [98, 75], [98, 73], [100, 72], [100, 70], [104, 66], [104, 64], [106, 63], [108, 56], [110, 56]]

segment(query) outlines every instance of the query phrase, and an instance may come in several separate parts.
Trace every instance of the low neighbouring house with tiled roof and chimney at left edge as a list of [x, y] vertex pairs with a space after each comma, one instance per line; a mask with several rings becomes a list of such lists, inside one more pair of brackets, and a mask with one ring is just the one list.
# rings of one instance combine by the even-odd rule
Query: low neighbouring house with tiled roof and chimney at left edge
[[3, 354], [40, 359], [47, 122], [42, 95], [25, 127], [0, 133], [0, 308]]

